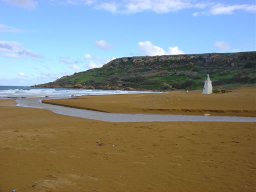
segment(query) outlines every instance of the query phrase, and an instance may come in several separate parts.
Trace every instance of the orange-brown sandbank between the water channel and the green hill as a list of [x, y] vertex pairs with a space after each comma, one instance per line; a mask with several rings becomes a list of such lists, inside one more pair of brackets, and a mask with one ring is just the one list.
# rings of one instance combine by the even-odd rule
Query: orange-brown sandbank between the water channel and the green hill
[[227, 93], [201, 94], [201, 90], [166, 93], [86, 95], [44, 103], [112, 113], [157, 113], [222, 116], [256, 116], [256, 86]]

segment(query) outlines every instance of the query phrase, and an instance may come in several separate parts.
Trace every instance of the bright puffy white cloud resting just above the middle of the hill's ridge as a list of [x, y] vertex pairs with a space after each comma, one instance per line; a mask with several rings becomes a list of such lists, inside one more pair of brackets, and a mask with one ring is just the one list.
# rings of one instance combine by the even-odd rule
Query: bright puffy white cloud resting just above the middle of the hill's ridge
[[184, 51], [178, 49], [177, 46], [168, 47], [168, 52], [163, 48], [152, 44], [150, 41], [139, 41], [138, 42], [139, 50], [145, 52], [146, 55], [155, 56], [155, 55], [164, 55], [164, 54], [184, 54]]

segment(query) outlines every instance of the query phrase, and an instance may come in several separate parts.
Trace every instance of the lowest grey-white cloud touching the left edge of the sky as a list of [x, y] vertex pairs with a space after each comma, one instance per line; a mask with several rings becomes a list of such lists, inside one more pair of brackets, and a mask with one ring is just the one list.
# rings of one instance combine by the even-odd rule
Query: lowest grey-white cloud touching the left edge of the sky
[[41, 54], [21, 46], [22, 43], [16, 41], [0, 41], [0, 52], [11, 52], [0, 55], [9, 58], [42, 57]]

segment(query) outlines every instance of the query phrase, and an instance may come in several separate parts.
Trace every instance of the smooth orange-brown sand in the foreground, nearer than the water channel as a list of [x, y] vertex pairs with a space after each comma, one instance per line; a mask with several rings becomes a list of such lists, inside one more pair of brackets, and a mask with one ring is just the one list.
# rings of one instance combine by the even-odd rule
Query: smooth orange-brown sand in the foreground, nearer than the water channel
[[0, 192], [256, 190], [255, 122], [112, 123], [14, 104], [0, 100]]

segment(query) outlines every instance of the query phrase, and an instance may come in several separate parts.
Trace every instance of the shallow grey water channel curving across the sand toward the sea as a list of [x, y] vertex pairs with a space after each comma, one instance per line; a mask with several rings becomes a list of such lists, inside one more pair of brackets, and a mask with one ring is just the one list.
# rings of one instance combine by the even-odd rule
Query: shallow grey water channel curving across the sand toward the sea
[[[54, 97], [63, 98], [63, 97]], [[65, 97], [68, 98], [68, 97]], [[103, 120], [109, 122], [139, 122], [139, 121], [229, 121], [229, 122], [255, 122], [256, 117], [242, 117], [242, 116], [199, 116], [199, 115], [172, 115], [172, 114], [120, 114], [107, 113], [92, 110], [71, 108], [65, 106], [51, 105], [41, 103], [41, 99], [51, 98], [22, 98], [16, 99], [17, 106], [44, 108], [52, 112], [89, 118], [94, 120]]]

